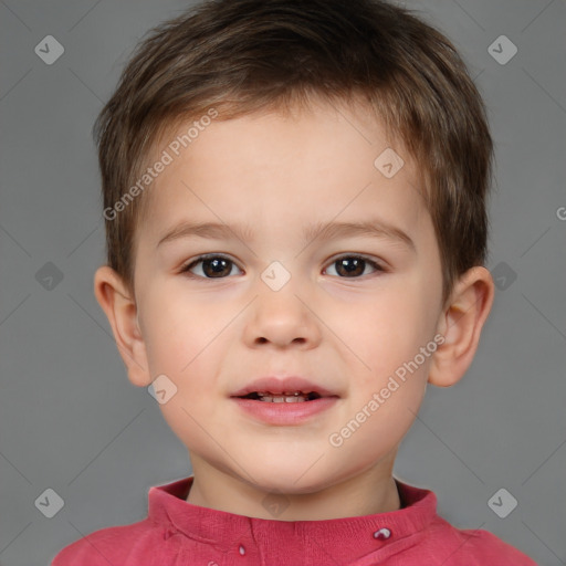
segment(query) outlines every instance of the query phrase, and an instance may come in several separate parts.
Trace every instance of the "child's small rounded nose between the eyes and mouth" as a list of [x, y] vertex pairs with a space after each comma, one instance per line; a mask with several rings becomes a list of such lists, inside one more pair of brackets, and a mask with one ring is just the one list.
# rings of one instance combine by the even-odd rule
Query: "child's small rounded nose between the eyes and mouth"
[[244, 329], [248, 346], [268, 346], [277, 348], [300, 347], [311, 349], [321, 342], [319, 321], [302, 295], [305, 287], [291, 281], [279, 291], [271, 290], [259, 282], [256, 300], [251, 305], [251, 313]]

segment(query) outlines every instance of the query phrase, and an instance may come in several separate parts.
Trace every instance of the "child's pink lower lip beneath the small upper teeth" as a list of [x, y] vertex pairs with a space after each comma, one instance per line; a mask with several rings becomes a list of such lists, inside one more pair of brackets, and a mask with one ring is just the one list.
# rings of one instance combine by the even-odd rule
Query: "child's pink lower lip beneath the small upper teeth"
[[303, 402], [268, 402], [232, 397], [249, 415], [270, 424], [296, 424], [333, 407], [338, 397], [319, 397]]

